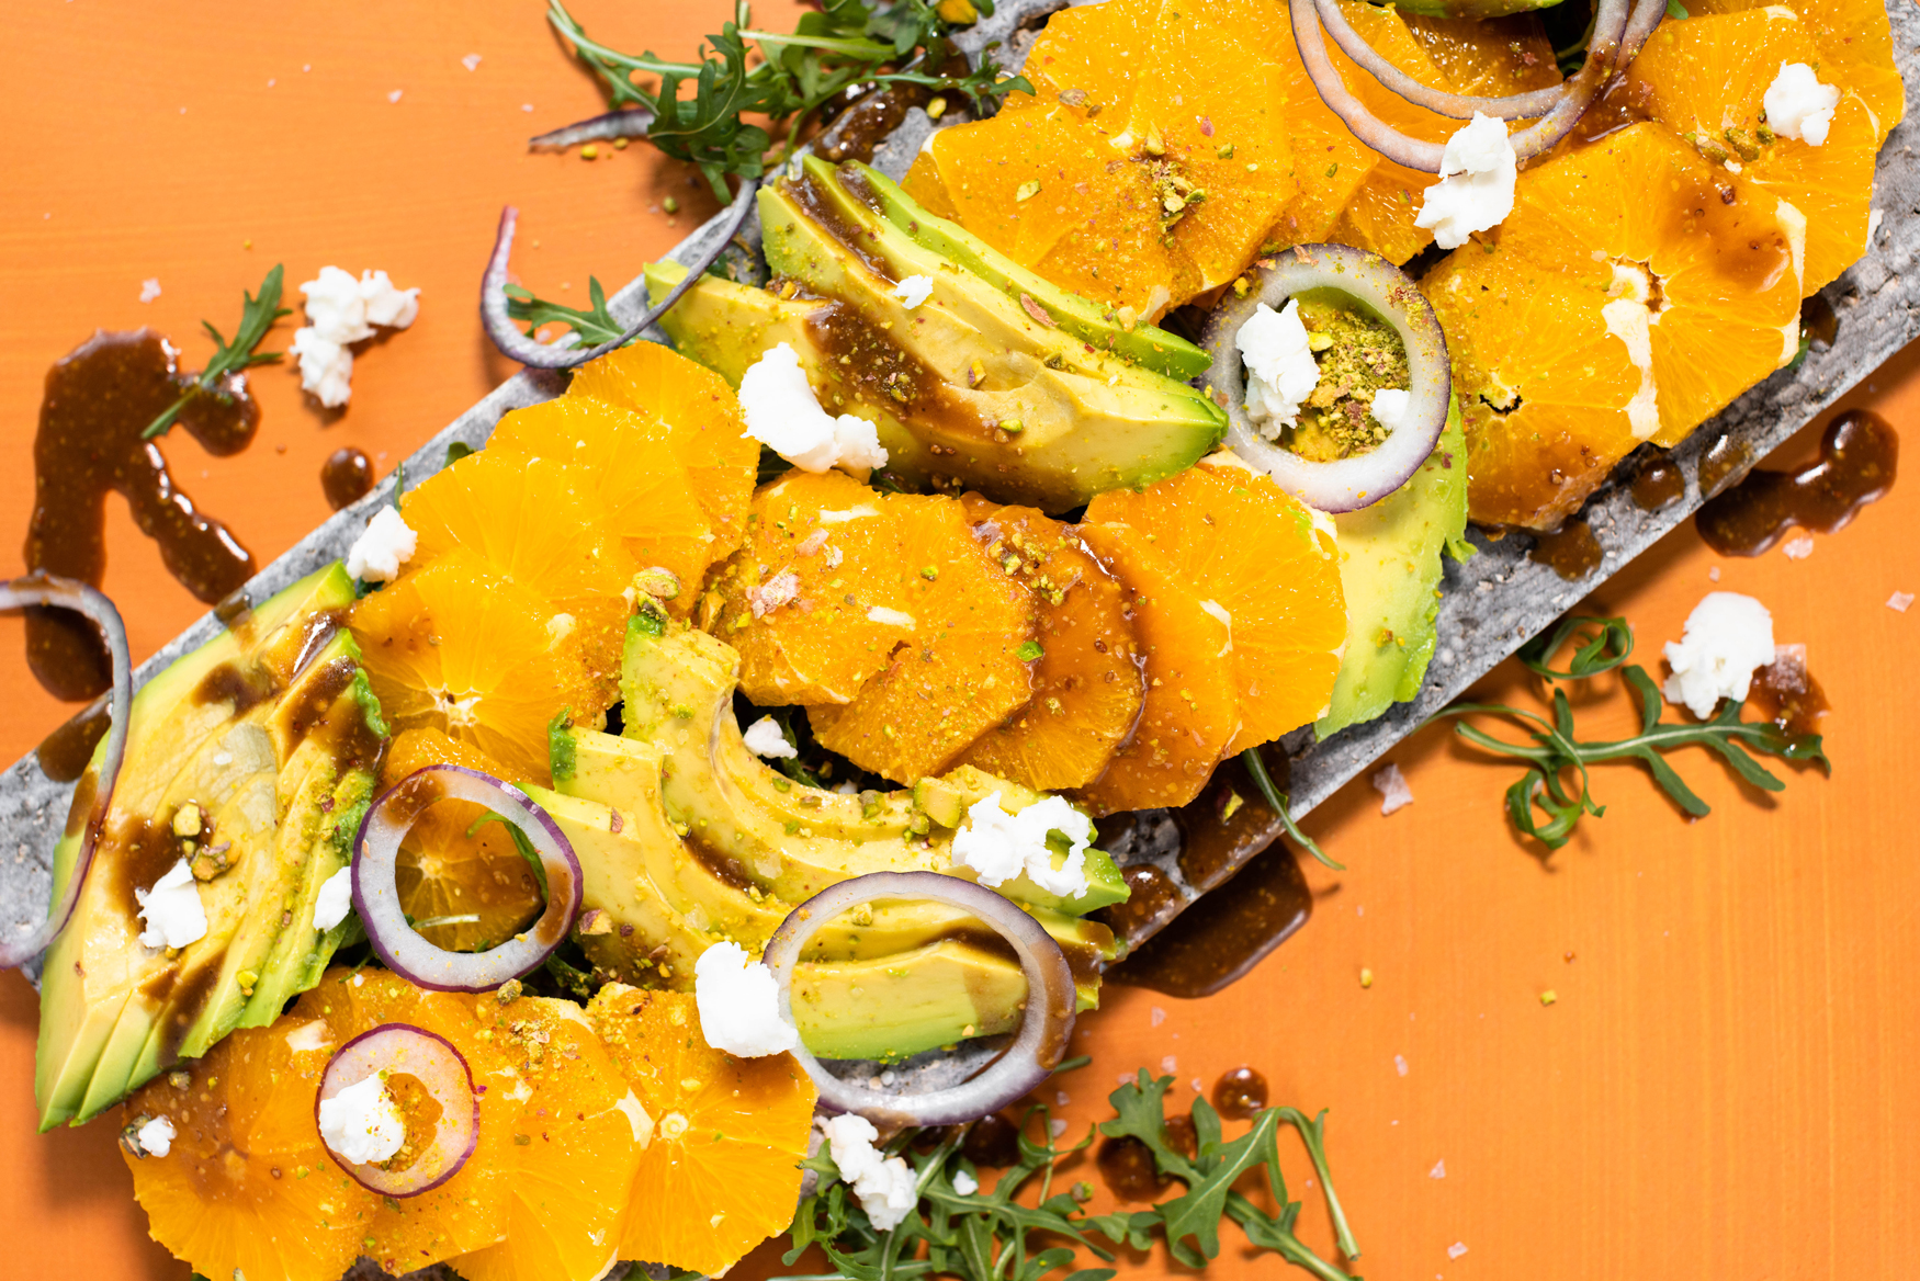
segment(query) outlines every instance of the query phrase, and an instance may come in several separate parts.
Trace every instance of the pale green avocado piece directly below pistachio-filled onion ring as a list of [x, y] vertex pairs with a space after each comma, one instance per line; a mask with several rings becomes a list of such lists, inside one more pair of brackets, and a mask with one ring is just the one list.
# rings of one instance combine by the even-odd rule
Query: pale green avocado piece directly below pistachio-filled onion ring
[[1327, 737], [1373, 720], [1421, 689], [1440, 613], [1440, 553], [1459, 551], [1467, 530], [1467, 449], [1459, 407], [1448, 411], [1432, 457], [1404, 486], [1359, 511], [1334, 517], [1346, 651], [1327, 714]]

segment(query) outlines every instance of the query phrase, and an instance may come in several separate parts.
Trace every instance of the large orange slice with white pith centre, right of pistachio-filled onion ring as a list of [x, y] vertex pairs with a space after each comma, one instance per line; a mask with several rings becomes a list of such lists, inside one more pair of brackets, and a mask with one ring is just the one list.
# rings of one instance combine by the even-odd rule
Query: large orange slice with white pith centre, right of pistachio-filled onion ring
[[1680, 442], [1791, 359], [1799, 229], [1655, 123], [1523, 173], [1498, 234], [1423, 282], [1473, 519], [1553, 528], [1638, 442]]

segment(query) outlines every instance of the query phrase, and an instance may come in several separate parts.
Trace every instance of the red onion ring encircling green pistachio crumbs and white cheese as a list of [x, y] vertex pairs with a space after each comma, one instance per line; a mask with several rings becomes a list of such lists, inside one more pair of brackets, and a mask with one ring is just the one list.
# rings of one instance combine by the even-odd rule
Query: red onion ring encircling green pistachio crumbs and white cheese
[[[1359, 511], [1405, 484], [1440, 440], [1453, 394], [1446, 334], [1419, 286], [1379, 254], [1344, 244], [1298, 244], [1265, 261], [1273, 265], [1254, 267], [1260, 288], [1215, 309], [1202, 342], [1213, 357], [1206, 384], [1227, 411], [1227, 444], [1308, 507]], [[1319, 288], [1348, 294], [1394, 326], [1407, 348], [1411, 382], [1400, 426], [1367, 453], [1334, 463], [1311, 463], [1260, 434], [1246, 417], [1246, 376], [1235, 346], [1260, 303], [1281, 307], [1294, 294]]]

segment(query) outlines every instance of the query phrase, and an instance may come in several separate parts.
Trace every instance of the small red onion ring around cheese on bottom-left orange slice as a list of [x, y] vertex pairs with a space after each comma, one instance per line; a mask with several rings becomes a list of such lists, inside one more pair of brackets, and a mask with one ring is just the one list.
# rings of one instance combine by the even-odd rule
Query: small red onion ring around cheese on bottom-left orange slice
[[326, 1060], [321, 1089], [313, 1095], [313, 1125], [321, 1124], [321, 1102], [380, 1072], [405, 1072], [426, 1087], [440, 1104], [434, 1143], [405, 1170], [349, 1164], [321, 1139], [321, 1147], [355, 1183], [380, 1196], [419, 1196], [461, 1172], [480, 1145], [480, 1095], [467, 1058], [453, 1045], [413, 1024], [380, 1024], [342, 1045]]

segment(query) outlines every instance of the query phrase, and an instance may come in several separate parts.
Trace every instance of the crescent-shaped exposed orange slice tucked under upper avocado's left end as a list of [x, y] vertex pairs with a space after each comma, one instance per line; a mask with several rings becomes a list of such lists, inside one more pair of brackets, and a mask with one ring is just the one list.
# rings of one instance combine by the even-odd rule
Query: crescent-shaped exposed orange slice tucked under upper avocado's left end
[[666, 424], [666, 447], [707, 513], [718, 561], [747, 530], [747, 499], [760, 446], [747, 438], [739, 401], [726, 378], [657, 342], [636, 342], [584, 365], [566, 398], [599, 399]]

